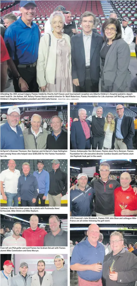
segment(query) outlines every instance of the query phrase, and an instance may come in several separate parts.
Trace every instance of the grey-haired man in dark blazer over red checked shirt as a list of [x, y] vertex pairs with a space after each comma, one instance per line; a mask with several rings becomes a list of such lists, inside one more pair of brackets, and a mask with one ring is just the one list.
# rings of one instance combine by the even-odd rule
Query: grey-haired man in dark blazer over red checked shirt
[[91, 122], [86, 119], [86, 110], [80, 108], [78, 111], [79, 120], [71, 124], [72, 149], [91, 149]]

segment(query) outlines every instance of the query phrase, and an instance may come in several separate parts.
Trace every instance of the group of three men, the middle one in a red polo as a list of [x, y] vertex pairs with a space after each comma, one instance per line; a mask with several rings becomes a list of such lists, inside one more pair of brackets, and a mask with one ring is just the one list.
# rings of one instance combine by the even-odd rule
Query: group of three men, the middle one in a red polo
[[67, 246], [67, 232], [60, 228], [60, 220], [57, 215], [49, 216], [48, 232], [45, 225], [38, 225], [39, 218], [32, 214], [28, 228], [19, 221], [13, 224], [13, 228], [1, 225], [1, 246], [3, 247], [24, 247], [24, 246]]

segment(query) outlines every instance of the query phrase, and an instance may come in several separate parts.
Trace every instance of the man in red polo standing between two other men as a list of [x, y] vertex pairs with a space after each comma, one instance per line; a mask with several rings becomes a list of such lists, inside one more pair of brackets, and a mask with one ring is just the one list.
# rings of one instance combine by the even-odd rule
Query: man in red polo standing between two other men
[[39, 218], [36, 214], [30, 217], [30, 228], [24, 230], [22, 237], [26, 239], [26, 246], [43, 246], [47, 232], [38, 227]]

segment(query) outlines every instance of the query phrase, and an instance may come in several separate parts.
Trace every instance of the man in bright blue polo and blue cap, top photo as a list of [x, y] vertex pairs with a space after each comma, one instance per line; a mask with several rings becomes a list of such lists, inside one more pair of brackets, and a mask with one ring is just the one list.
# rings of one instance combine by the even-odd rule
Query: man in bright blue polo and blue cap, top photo
[[4, 41], [11, 59], [8, 64], [13, 73], [15, 92], [39, 92], [36, 82], [36, 61], [40, 41], [38, 26], [32, 22], [35, 1], [20, 1], [20, 17], [6, 31]]

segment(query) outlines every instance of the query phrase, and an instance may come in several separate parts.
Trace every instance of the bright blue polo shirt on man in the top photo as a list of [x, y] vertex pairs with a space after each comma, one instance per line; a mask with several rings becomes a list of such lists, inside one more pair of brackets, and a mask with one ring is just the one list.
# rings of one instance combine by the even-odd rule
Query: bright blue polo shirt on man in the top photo
[[38, 59], [40, 31], [35, 23], [28, 27], [21, 17], [6, 31], [4, 41], [10, 57], [18, 64], [32, 64]]

